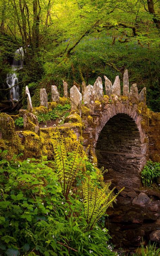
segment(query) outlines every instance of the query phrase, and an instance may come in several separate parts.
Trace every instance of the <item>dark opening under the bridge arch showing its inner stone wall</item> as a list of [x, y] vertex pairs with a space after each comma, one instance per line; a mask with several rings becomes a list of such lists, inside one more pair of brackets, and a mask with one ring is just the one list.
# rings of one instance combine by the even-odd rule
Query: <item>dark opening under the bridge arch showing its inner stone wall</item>
[[116, 114], [100, 132], [96, 155], [98, 166], [108, 169], [104, 180], [110, 180], [126, 191], [141, 185], [140, 171], [145, 152], [135, 121], [127, 114]]

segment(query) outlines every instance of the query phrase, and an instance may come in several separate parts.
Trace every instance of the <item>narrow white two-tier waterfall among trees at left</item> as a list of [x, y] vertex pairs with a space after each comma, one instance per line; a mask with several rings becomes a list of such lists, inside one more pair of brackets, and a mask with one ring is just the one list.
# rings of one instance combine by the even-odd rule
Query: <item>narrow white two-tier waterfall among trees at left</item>
[[[14, 56], [13, 64], [11, 65], [11, 69], [15, 71], [23, 68], [23, 59], [24, 59], [24, 51], [23, 51], [23, 48], [20, 47], [15, 51], [15, 56]], [[7, 74], [6, 83], [8, 85], [8, 88], [11, 88], [12, 86], [14, 86], [12, 87], [12, 89], [10, 89], [9, 95], [11, 94], [11, 92], [13, 92], [13, 100], [18, 101], [20, 89], [18, 85], [17, 75], [15, 73]]]

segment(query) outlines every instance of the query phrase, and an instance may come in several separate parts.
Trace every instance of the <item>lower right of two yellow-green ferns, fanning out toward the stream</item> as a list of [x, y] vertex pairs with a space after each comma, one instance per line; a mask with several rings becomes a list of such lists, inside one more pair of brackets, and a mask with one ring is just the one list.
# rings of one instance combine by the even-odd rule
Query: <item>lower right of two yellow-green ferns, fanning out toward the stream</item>
[[98, 186], [95, 187], [89, 179], [88, 182], [83, 184], [84, 212], [89, 230], [94, 227], [117, 195], [124, 189], [121, 189], [114, 195], [113, 190], [115, 188], [109, 190], [110, 185], [111, 183], [105, 184], [103, 188], [99, 189]]

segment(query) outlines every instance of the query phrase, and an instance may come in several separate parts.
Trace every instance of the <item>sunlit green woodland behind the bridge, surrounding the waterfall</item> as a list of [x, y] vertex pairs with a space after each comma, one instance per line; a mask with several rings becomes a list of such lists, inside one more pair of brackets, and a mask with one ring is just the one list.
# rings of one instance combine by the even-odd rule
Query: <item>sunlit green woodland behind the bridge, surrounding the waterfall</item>
[[[20, 86], [39, 88], [68, 82], [112, 82], [129, 70], [130, 85], [146, 86], [148, 106], [159, 110], [159, 4], [157, 0], [1, 0], [0, 87], [14, 51], [23, 46]], [[23, 97], [23, 94], [21, 95]]]

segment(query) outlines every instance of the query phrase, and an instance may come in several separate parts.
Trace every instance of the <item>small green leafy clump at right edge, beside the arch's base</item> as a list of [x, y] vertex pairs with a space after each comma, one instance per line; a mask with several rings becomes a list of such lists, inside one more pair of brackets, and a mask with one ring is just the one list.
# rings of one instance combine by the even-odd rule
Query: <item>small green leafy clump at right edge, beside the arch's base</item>
[[153, 183], [158, 184], [158, 178], [160, 178], [160, 163], [147, 161], [141, 172], [141, 178], [145, 187], [150, 187]]

